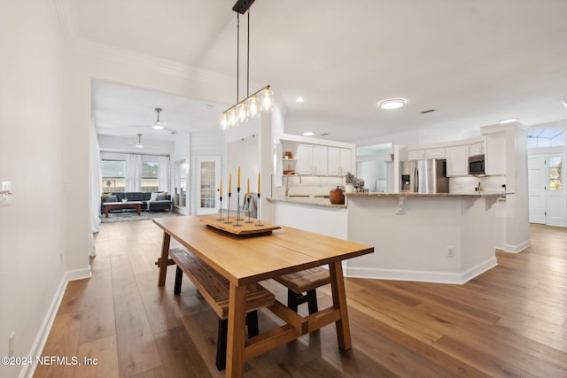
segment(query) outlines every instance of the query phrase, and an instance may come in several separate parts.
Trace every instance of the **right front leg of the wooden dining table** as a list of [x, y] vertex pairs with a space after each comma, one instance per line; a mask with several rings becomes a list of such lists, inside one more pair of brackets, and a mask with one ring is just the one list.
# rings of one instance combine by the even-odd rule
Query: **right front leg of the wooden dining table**
[[341, 261], [329, 264], [330, 287], [333, 293], [333, 306], [340, 311], [340, 319], [335, 322], [337, 328], [338, 348], [348, 351], [352, 347], [351, 330], [348, 325], [348, 311], [346, 308], [345, 278]]

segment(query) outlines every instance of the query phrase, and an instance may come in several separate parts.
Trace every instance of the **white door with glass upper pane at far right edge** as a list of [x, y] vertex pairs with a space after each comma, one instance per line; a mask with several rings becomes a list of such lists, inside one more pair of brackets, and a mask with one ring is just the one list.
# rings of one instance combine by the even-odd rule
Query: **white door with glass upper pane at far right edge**
[[563, 155], [548, 155], [546, 161], [546, 224], [563, 226], [565, 206], [563, 198]]

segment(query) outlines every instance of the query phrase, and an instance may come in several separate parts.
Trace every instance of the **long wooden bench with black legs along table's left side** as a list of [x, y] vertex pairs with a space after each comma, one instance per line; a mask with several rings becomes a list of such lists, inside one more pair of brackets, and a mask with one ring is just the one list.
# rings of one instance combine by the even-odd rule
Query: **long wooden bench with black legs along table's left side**
[[[199, 293], [219, 317], [216, 346], [216, 367], [222, 370], [227, 359], [227, 333], [229, 327], [229, 280], [218, 274], [200, 258], [183, 249], [169, 250], [169, 257], [177, 265], [175, 272], [175, 295], [181, 293], [183, 273], [187, 274]], [[249, 284], [246, 292], [246, 326], [248, 337], [258, 336], [258, 312], [256, 310], [274, 305], [274, 294], [259, 283]]]

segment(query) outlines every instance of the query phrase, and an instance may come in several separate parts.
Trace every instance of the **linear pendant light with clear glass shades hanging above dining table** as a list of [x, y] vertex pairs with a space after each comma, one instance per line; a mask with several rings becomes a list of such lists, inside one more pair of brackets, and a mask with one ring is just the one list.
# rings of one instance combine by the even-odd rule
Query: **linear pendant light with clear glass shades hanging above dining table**
[[[269, 85], [250, 95], [250, 5], [254, 0], [238, 0], [232, 7], [237, 12], [237, 104], [221, 113], [221, 130], [237, 127], [248, 119], [258, 118], [260, 112], [274, 110], [274, 92]], [[238, 79], [240, 76], [240, 15], [248, 12], [248, 35], [246, 45], [246, 98], [239, 100]]]

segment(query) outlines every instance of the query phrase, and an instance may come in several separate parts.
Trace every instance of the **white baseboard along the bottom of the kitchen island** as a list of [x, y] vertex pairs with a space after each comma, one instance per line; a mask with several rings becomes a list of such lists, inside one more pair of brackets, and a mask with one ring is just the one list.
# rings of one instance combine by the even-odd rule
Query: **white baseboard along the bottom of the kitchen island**
[[488, 258], [462, 273], [423, 272], [415, 270], [377, 269], [363, 267], [346, 267], [346, 277], [370, 278], [377, 280], [399, 280], [416, 282], [452, 283], [462, 285], [478, 274], [497, 266], [496, 258]]

